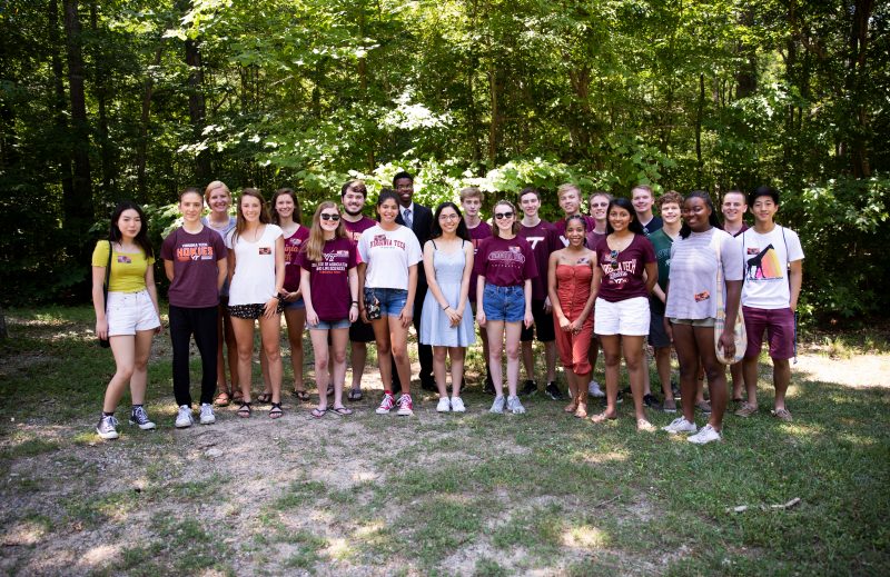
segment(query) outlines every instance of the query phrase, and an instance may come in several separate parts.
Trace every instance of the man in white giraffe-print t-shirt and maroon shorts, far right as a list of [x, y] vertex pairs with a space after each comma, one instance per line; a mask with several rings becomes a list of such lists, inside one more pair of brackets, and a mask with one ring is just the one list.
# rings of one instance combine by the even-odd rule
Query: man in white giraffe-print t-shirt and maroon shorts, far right
[[794, 356], [794, 311], [803, 279], [803, 249], [793, 230], [775, 223], [775, 213], [779, 211], [779, 192], [775, 189], [758, 188], [748, 197], [748, 203], [754, 215], [754, 227], [739, 237], [745, 263], [742, 310], [748, 349], [742, 359], [742, 371], [748, 401], [735, 415], [750, 417], [758, 411], [758, 358], [765, 330], [775, 387], [775, 408], [772, 414], [790, 421], [785, 392], [791, 382], [789, 359]]

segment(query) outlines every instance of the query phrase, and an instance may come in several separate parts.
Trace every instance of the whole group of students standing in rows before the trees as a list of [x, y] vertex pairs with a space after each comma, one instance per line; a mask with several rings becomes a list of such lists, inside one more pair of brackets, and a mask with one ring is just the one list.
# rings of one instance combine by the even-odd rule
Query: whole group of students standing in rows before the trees
[[[195, 188], [181, 192], [182, 226], [161, 247], [170, 280], [177, 427], [194, 422], [188, 370], [192, 337], [202, 368], [199, 421], [215, 422], [214, 404], [231, 401], [239, 405], [240, 417], [251, 416], [257, 321], [265, 381], [257, 400], [270, 404], [270, 418], [283, 416], [279, 331], [284, 315], [294, 394], [300, 400], [309, 399], [301, 340], [306, 326], [309, 329], [319, 391], [319, 402], [312, 410], [316, 418], [329, 411], [353, 412], [343, 402], [347, 345], [352, 342], [353, 366], [347, 397], [358, 400], [370, 341], [376, 344], [384, 388], [376, 412], [395, 409], [398, 415], [412, 415], [411, 325], [418, 337], [421, 384], [438, 391], [437, 410], [466, 410], [461, 398], [464, 357], [475, 342], [478, 324], [487, 361], [485, 389], [495, 395], [491, 412], [525, 411], [520, 395], [537, 390], [532, 348], [536, 337], [544, 344], [545, 391], [561, 398], [555, 384], [558, 352], [572, 397], [567, 412], [587, 417], [589, 394], [605, 396], [605, 410], [592, 417], [595, 422], [617, 417], [623, 356], [637, 429], [652, 430], [645, 414], [646, 406], [654, 406], [645, 360], [649, 340], [665, 411], [676, 410], [670, 381], [671, 346], [680, 362], [683, 416], [664, 429], [692, 434], [693, 442], [710, 442], [721, 438], [728, 397], [724, 367], [714, 350], [719, 300], [725, 301], [725, 326], [718, 338], [728, 356], [733, 354], [732, 328], [740, 308], [748, 327], [741, 370], [733, 367], [733, 399], [741, 400], [743, 377], [748, 400], [736, 414], [756, 412], [756, 360], [765, 330], [774, 362], [774, 414], [791, 419], [784, 407], [788, 359], [793, 356], [787, 341], [789, 318], [793, 331], [803, 253], [797, 235], [773, 221], [779, 207], [773, 189], [762, 187], [750, 195], [755, 226], [748, 230], [742, 220], [744, 195], [725, 196], [725, 228], [738, 235], [733, 238], [722, 230], [709, 195], [702, 191], [685, 199], [673, 191], [662, 195], [662, 218], [652, 213], [654, 193], [646, 186], [635, 187], [631, 200], [595, 192], [586, 216], [581, 210], [581, 190], [563, 185], [557, 195], [564, 218], [548, 223], [537, 215], [540, 192], [527, 188], [518, 197], [523, 217], [511, 201], [498, 200], [492, 226], [479, 216], [483, 193], [477, 188], [461, 191], [461, 207], [443, 202], [433, 211], [413, 201], [412, 175], [399, 172], [393, 187], [379, 193], [377, 220], [373, 220], [363, 215], [364, 182], [349, 181], [340, 190], [340, 205], [319, 203], [308, 228], [299, 222], [299, 203], [291, 189], [275, 192], [270, 213], [258, 190], [244, 189], [236, 217], [229, 216], [233, 199], [222, 182], [211, 182], [204, 193]], [[205, 202], [210, 212], [202, 218]], [[128, 382], [134, 402], [130, 422], [155, 428], [144, 407], [151, 340], [161, 330], [154, 261], [142, 210], [121, 202], [112, 213], [108, 240], [97, 243], [92, 257], [96, 332], [110, 341], [117, 365], [97, 425], [105, 439], [118, 436], [113, 415]], [[605, 394], [591, 380], [600, 348]], [[527, 377], [522, 390], [521, 362]], [[706, 406], [696, 390], [702, 370], [711, 404], [709, 422], [699, 430], [694, 411], [696, 405]], [[328, 396], [333, 396], [330, 405]]]

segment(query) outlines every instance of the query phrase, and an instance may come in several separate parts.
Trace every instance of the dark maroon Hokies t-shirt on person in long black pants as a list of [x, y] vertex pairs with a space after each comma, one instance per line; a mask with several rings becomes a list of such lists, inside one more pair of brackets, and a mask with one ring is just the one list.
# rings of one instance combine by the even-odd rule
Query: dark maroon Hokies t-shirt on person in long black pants
[[167, 292], [170, 305], [186, 308], [219, 305], [217, 262], [227, 255], [222, 237], [210, 227], [194, 235], [181, 227], [170, 232], [160, 246], [160, 258], [174, 263], [174, 280]]

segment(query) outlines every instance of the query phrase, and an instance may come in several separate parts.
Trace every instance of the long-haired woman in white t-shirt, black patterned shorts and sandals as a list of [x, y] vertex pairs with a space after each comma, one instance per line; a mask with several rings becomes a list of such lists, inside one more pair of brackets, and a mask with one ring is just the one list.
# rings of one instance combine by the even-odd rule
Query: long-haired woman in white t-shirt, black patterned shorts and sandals
[[281, 229], [269, 223], [259, 190], [246, 188], [238, 200], [238, 221], [226, 238], [229, 249], [229, 315], [238, 344], [238, 381], [241, 385], [239, 417], [249, 417], [254, 322], [259, 320], [263, 350], [269, 364], [271, 408], [281, 411], [281, 352], [279, 334], [285, 282], [285, 239]]

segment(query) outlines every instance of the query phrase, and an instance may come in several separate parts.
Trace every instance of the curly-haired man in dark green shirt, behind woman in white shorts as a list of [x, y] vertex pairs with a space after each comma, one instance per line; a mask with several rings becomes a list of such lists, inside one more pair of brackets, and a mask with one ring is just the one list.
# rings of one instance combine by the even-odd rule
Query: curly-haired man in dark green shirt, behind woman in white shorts
[[680, 236], [682, 226], [680, 209], [683, 206], [683, 197], [671, 190], [662, 195], [657, 203], [664, 226], [649, 236], [649, 240], [655, 248], [655, 258], [659, 259], [659, 282], [652, 289], [652, 296], [649, 298], [649, 344], [655, 350], [655, 369], [659, 371], [661, 389], [664, 391], [662, 410], [676, 412], [676, 400], [674, 400], [671, 388], [671, 339], [664, 328], [666, 300], [664, 290], [668, 288], [668, 277], [671, 271], [671, 246]]

